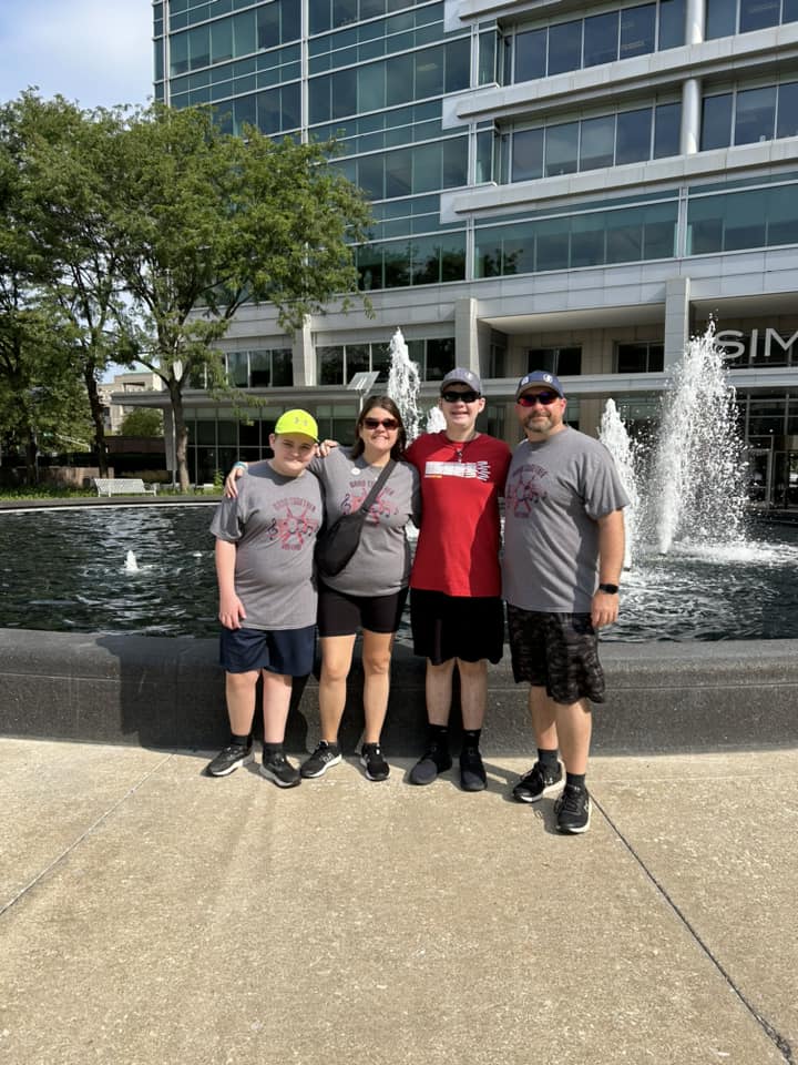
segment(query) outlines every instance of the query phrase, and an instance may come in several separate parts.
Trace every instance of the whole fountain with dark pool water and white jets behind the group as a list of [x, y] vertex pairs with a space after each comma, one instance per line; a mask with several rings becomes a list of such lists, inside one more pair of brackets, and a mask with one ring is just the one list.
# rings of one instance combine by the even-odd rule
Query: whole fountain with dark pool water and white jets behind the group
[[[798, 527], [767, 542], [743, 535], [734, 394], [713, 336], [690, 342], [674, 375], [658, 449], [631, 442], [607, 403], [602, 438], [633, 506], [621, 617], [603, 640], [798, 638]], [[391, 356], [388, 390], [411, 436], [420, 420], [418, 368], [399, 329]], [[213, 506], [120, 504], [113, 520], [93, 507], [0, 514], [0, 628], [215, 636]], [[20, 544], [30, 549], [20, 552]], [[408, 642], [405, 629], [399, 642]]]

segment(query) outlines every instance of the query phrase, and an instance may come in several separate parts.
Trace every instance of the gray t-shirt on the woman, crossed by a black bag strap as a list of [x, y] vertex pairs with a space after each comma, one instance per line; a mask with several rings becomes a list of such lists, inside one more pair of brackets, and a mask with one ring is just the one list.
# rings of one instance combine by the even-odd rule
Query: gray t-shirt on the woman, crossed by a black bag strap
[[[346, 447], [315, 458], [309, 469], [321, 483], [330, 524], [358, 510], [381, 473], [362, 455], [354, 459]], [[325, 584], [349, 596], [389, 596], [405, 588], [410, 579], [406, 526], [411, 519], [418, 525], [420, 515], [418, 470], [409, 463], [397, 463], [371, 504], [357, 551], [339, 574], [325, 577]]]

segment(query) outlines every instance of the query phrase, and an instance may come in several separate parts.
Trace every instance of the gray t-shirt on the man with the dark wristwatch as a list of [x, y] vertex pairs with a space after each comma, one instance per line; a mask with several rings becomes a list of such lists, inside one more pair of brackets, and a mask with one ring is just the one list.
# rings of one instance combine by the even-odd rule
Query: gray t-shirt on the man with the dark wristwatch
[[515, 448], [504, 488], [504, 598], [514, 607], [589, 613], [596, 589], [596, 519], [625, 507], [612, 456], [567, 426]]

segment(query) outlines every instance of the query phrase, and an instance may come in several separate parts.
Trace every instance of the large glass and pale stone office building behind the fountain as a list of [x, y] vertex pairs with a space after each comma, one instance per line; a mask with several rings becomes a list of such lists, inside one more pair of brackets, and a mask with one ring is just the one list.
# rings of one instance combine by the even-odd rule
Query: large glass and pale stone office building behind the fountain
[[[155, 92], [226, 129], [337, 136], [374, 203], [356, 248], [376, 317], [286, 337], [245, 308], [225, 342], [249, 422], [190, 393], [195, 479], [262, 454], [286, 403], [351, 432], [355, 375], [400, 327], [422, 406], [477, 369], [483, 428], [555, 371], [574, 424], [656, 416], [713, 316], [768, 498], [798, 475], [798, 0], [156, 0]], [[356, 378], [362, 379], [362, 378]], [[794, 478], [795, 479], [795, 478]], [[796, 500], [798, 501], [798, 500]]]

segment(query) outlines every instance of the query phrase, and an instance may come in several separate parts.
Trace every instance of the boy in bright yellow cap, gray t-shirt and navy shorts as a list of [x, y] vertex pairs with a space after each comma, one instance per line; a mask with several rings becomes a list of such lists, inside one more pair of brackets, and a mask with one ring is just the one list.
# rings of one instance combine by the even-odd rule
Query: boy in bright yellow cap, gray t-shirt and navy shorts
[[323, 523], [321, 489], [306, 468], [318, 426], [306, 410], [286, 410], [269, 436], [274, 457], [223, 499], [211, 531], [222, 622], [231, 742], [208, 764], [226, 777], [250, 762], [255, 687], [263, 676], [264, 752], [260, 772], [279, 788], [300, 782], [283, 743], [291, 682], [313, 669], [317, 594], [314, 547]]

